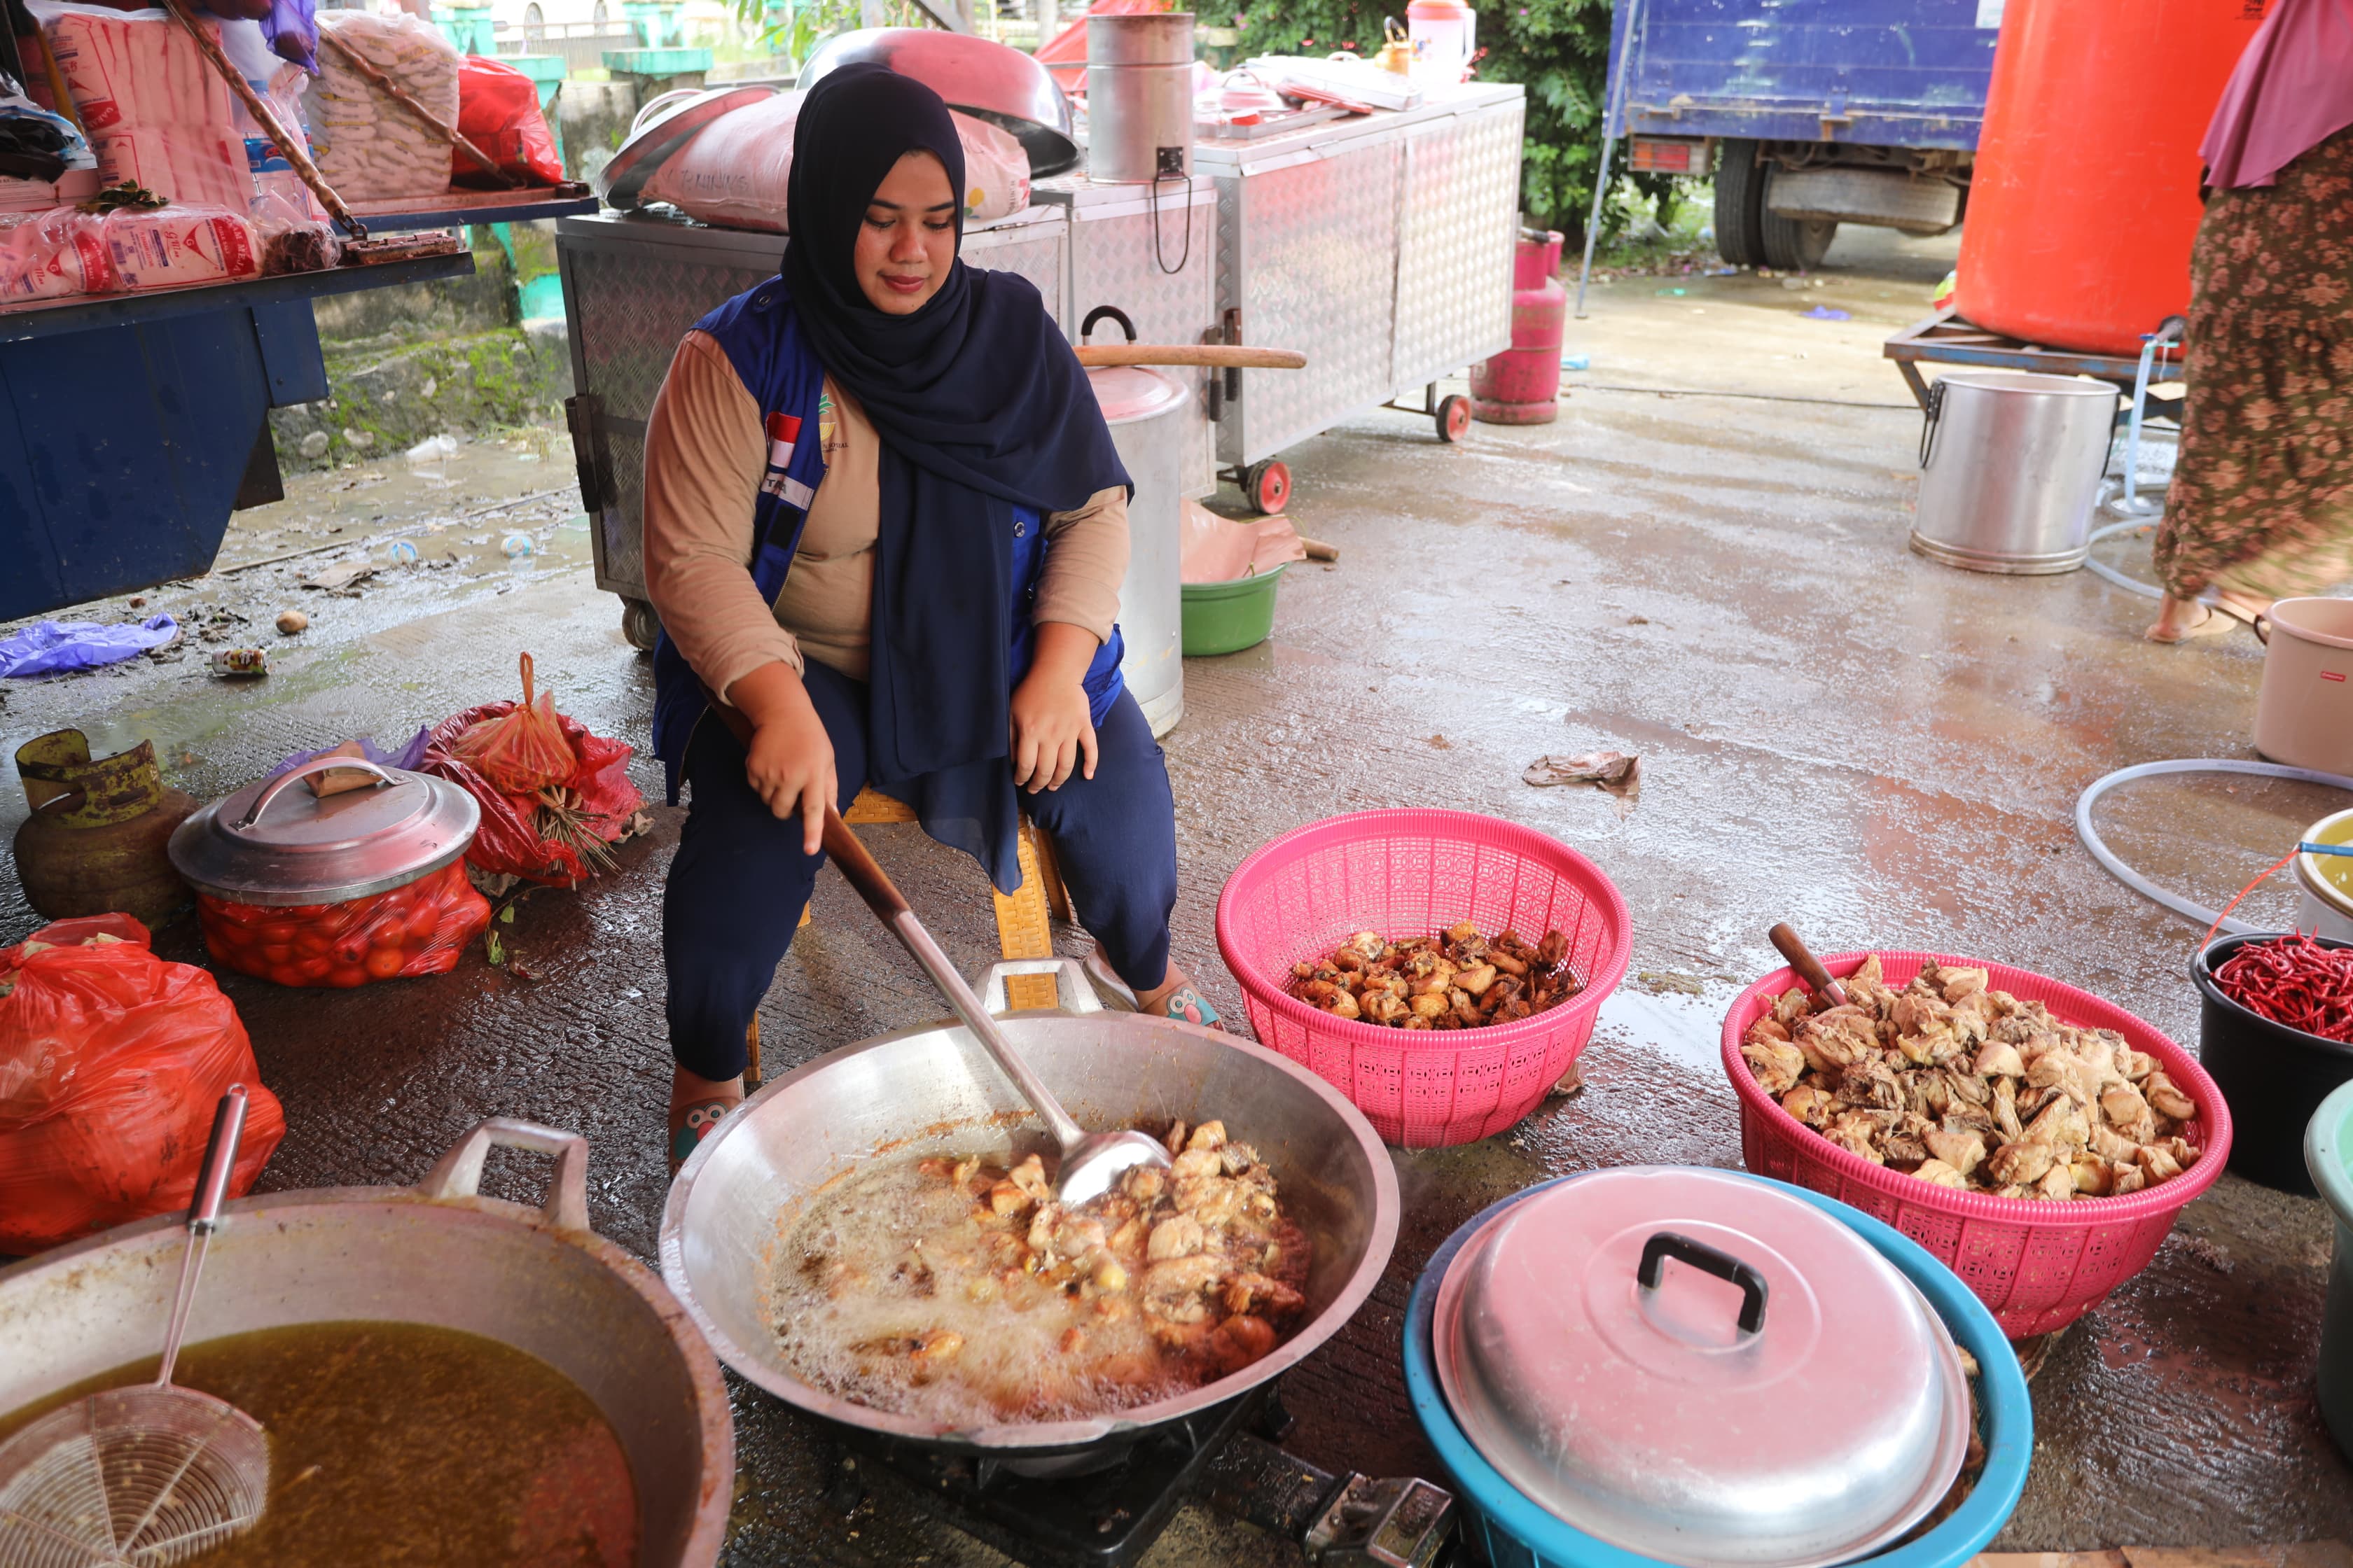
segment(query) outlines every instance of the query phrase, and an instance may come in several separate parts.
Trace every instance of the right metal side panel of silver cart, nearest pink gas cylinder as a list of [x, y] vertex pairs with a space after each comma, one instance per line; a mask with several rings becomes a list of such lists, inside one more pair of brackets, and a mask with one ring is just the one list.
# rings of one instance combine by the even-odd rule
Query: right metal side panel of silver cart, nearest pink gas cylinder
[[1391, 386], [1452, 376], [1511, 348], [1511, 252], [1525, 99], [1405, 136]]

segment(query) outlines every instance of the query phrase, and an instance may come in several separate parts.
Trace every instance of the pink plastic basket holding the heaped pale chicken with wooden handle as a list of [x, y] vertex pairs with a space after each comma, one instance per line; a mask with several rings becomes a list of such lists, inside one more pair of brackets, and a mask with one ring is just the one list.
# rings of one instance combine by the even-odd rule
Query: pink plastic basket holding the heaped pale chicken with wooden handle
[[[1824, 966], [1833, 976], [1847, 976], [1866, 957], [1842, 952], [1824, 959]], [[1781, 1110], [1741, 1058], [1741, 1034], [1748, 1025], [1772, 1011], [1774, 997], [1798, 985], [1786, 969], [1741, 992], [1725, 1016], [1725, 1072], [1741, 1098], [1741, 1161], [1758, 1175], [1826, 1192], [1894, 1225], [1960, 1274], [2012, 1340], [2064, 1328], [2139, 1274], [2158, 1253], [2165, 1232], [2174, 1227], [2174, 1215], [2214, 1185], [2231, 1157], [2231, 1107], [2188, 1051], [2092, 992], [1984, 959], [1880, 952], [1887, 985], [1894, 987], [1906, 985], [1929, 959], [1981, 966], [1991, 973], [1993, 990], [2021, 1001], [2042, 1001], [2078, 1027], [2115, 1030], [2134, 1051], [2158, 1058], [2174, 1084], [2198, 1103], [2198, 1119], [2184, 1128], [2184, 1135], [2202, 1150], [2198, 1164], [2169, 1182], [2125, 1197], [2047, 1204], [1932, 1187], [1849, 1154]]]

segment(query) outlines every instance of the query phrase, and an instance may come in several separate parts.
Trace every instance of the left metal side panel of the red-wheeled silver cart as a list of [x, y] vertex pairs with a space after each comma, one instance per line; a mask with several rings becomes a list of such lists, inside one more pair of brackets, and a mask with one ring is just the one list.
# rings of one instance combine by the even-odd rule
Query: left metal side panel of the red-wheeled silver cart
[[1219, 306], [1242, 310], [1242, 341], [1297, 348], [1308, 367], [1247, 369], [1219, 428], [1219, 458], [1257, 463], [1348, 414], [1386, 402], [1398, 284], [1402, 141], [1339, 141], [1315, 158], [1219, 179], [1233, 244], [1221, 247]]

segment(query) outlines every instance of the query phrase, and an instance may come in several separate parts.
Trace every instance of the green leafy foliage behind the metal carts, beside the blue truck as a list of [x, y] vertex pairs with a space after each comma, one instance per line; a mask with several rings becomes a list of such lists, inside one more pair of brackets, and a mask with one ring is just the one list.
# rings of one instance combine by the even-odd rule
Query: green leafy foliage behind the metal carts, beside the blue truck
[[[1240, 54], [1332, 54], [1381, 47], [1381, 19], [1402, 21], [1402, 0], [1264, 0], [1247, 16]], [[1478, 7], [1478, 63], [1482, 82], [1527, 87], [1527, 141], [1520, 165], [1520, 202], [1529, 223], [1558, 228], [1581, 244], [1593, 176], [1602, 150], [1602, 94], [1609, 73], [1609, 0], [1506, 0]], [[1612, 153], [1624, 165], [1624, 143]], [[1635, 183], [1659, 195], [1666, 176], [1638, 174]], [[1617, 183], [1617, 181], [1612, 181]], [[1602, 230], [1624, 221], [1624, 202], [1609, 202]]]

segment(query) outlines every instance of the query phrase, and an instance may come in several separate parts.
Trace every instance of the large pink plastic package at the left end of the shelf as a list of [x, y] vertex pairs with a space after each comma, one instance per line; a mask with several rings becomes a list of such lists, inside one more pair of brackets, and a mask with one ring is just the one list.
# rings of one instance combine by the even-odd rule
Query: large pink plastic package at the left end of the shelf
[[[28, 0], [99, 179], [167, 202], [245, 212], [254, 197], [224, 82], [169, 12]], [[200, 24], [209, 26], [209, 24]]]

